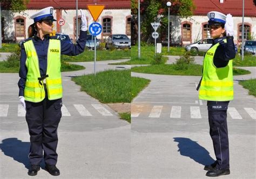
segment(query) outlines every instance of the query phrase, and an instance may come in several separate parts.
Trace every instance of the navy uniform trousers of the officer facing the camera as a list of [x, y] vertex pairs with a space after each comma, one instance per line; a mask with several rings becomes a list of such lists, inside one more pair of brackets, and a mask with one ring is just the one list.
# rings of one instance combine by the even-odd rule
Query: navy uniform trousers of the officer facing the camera
[[43, 101], [25, 101], [26, 122], [30, 135], [29, 159], [31, 165], [40, 164], [43, 158], [45, 164], [57, 163], [57, 128], [62, 117], [62, 99], [48, 100], [45, 85], [44, 88], [45, 99]]

